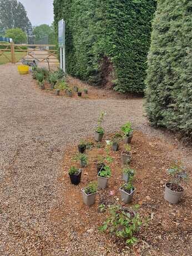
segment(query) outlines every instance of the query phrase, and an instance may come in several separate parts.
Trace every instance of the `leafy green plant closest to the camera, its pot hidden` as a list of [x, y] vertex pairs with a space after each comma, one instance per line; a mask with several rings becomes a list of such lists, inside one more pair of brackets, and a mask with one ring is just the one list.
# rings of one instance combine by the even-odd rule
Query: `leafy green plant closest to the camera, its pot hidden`
[[[135, 206], [135, 209], [138, 206]], [[125, 239], [127, 245], [133, 245], [138, 242], [134, 237], [140, 227], [145, 225], [146, 221], [140, 218], [139, 213], [132, 209], [123, 208], [121, 205], [112, 205], [109, 207], [109, 217], [105, 220], [100, 231], [108, 231], [119, 238]]]

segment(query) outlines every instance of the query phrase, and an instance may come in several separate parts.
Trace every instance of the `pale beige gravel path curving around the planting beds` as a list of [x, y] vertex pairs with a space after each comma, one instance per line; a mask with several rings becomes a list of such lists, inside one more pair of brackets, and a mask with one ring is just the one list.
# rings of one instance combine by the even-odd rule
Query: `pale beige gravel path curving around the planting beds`
[[0, 83], [0, 255], [65, 255], [48, 221], [60, 200], [65, 146], [91, 135], [102, 110], [107, 132], [130, 120], [144, 133], [164, 135], [148, 126], [142, 99], [55, 97], [12, 64], [0, 66]]

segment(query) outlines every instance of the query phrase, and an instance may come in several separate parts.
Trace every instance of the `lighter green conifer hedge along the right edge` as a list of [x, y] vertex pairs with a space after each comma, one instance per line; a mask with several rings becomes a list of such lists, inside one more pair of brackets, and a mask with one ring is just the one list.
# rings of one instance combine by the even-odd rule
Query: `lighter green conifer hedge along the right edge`
[[159, 0], [146, 79], [146, 111], [154, 126], [192, 137], [192, 1]]

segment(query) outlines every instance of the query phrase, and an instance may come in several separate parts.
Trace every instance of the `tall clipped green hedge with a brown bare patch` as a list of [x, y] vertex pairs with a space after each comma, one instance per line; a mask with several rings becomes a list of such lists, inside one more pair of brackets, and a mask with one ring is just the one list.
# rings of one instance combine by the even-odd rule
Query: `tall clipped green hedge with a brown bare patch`
[[67, 72], [120, 92], [144, 90], [155, 0], [54, 0], [66, 22]]

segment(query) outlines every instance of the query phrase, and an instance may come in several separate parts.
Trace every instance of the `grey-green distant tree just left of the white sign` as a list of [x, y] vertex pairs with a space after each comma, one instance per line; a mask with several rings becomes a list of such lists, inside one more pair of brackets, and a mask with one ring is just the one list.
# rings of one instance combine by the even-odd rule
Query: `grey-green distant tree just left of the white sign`
[[33, 29], [35, 37], [35, 43], [54, 44], [55, 43], [55, 32], [54, 26], [42, 24]]

